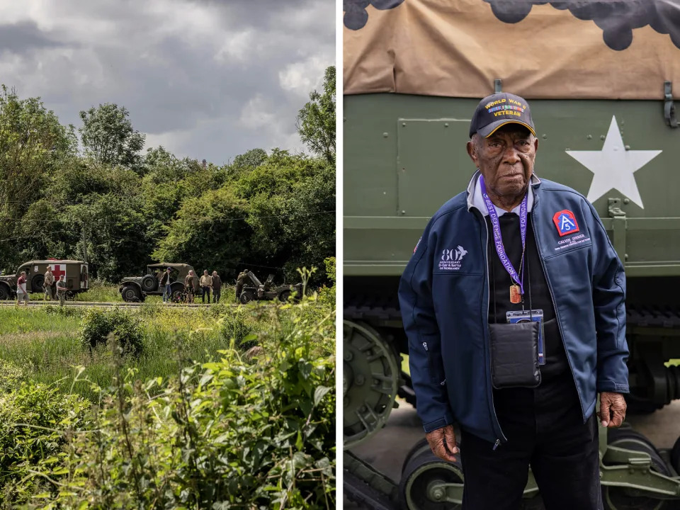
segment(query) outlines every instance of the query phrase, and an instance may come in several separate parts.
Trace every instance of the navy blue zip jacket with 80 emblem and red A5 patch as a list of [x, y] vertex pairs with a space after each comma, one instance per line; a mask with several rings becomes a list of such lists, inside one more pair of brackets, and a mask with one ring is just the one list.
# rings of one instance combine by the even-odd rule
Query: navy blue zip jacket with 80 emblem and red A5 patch
[[[545, 179], [531, 186], [538, 255], [585, 421], [598, 392], [628, 392], [623, 266], [584, 196]], [[399, 304], [425, 431], [457, 421], [498, 444], [506, 438], [494, 411], [489, 361], [493, 234], [469, 193], [448, 200], [429, 221], [399, 283]]]

